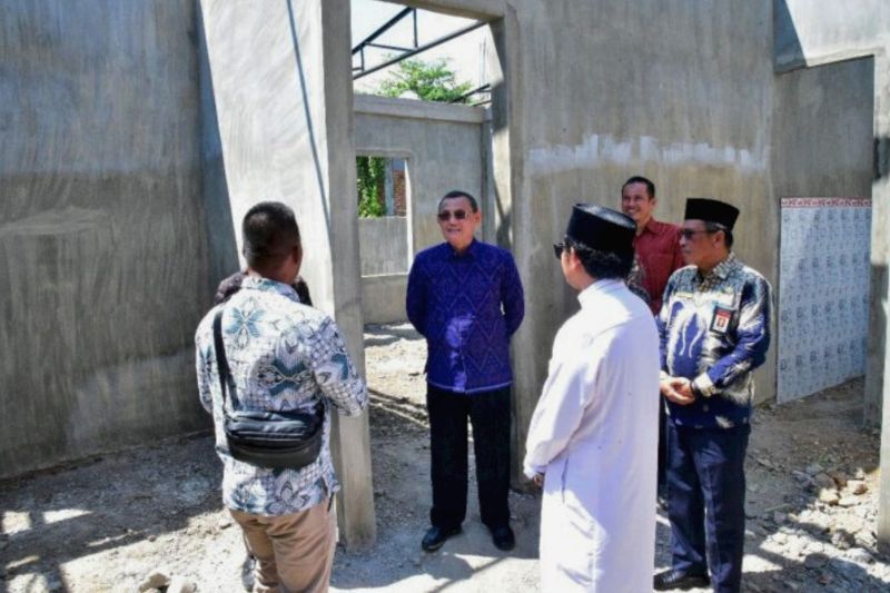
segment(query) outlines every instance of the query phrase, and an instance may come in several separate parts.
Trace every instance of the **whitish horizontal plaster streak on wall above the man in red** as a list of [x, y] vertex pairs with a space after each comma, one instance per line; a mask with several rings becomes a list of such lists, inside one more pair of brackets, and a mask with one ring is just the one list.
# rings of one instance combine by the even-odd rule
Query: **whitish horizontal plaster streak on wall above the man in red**
[[553, 175], [599, 165], [626, 165], [632, 161], [671, 166], [733, 167], [742, 172], [752, 172], [767, 170], [769, 149], [715, 147], [708, 142], [662, 144], [651, 136], [622, 139], [607, 134], [592, 134], [578, 145], [556, 145], [533, 148], [528, 151], [528, 170], [533, 176]]

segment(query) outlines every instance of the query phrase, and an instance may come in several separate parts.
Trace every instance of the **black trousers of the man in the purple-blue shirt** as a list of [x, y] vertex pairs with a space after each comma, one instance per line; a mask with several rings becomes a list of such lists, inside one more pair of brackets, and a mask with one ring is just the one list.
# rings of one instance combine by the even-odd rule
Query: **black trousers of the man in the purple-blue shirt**
[[427, 385], [433, 508], [429, 521], [449, 530], [466, 517], [467, 429], [473, 423], [476, 481], [482, 522], [490, 528], [510, 523], [510, 387], [458, 394]]

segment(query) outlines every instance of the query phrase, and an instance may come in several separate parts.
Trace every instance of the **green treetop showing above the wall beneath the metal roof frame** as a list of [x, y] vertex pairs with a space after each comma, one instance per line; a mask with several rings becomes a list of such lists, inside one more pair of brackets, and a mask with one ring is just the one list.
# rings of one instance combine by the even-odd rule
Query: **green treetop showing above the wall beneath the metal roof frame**
[[403, 60], [387, 80], [380, 83], [379, 93], [386, 97], [399, 97], [404, 92], [414, 92], [422, 101], [466, 102], [462, 99], [471, 89], [469, 82], [457, 83], [454, 71], [447, 61]]

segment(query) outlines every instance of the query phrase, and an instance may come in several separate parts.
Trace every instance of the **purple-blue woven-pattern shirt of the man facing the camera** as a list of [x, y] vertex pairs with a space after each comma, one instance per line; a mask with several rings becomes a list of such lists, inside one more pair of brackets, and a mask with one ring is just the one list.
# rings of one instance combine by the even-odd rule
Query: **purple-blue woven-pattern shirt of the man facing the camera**
[[431, 385], [472, 394], [513, 382], [510, 336], [525, 305], [508, 251], [477, 240], [459, 256], [447, 243], [424, 249], [411, 267], [405, 308], [426, 338]]

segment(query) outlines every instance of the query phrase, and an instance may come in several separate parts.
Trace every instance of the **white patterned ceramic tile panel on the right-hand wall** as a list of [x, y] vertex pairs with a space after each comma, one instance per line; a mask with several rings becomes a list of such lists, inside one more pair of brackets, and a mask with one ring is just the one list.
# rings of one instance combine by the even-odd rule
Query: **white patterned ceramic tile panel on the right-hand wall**
[[866, 373], [871, 200], [782, 198], [779, 402]]

